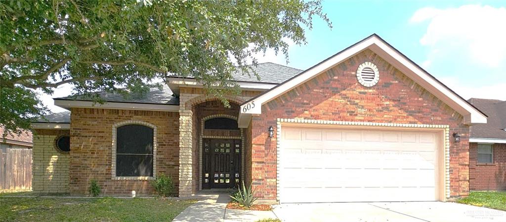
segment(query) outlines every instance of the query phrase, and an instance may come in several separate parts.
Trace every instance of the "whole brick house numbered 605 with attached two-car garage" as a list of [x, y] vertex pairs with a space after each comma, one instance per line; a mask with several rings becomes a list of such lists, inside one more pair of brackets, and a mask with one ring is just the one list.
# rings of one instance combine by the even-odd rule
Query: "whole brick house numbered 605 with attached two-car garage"
[[[150, 194], [165, 174], [180, 197], [241, 181], [268, 202], [469, 194], [469, 127], [487, 116], [377, 35], [305, 71], [254, 69], [260, 80], [234, 75], [242, 91], [230, 107], [174, 76], [145, 97], [100, 93], [103, 105], [55, 98], [71, 113], [34, 123], [34, 149], [62, 164], [34, 190], [83, 195], [96, 179], [104, 195]], [[61, 136], [70, 144], [55, 152]]]

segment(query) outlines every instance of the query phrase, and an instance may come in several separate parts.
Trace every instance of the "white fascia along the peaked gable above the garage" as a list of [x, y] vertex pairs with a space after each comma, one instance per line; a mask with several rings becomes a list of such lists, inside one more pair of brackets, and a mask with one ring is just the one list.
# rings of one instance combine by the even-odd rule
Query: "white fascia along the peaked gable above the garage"
[[[388, 59], [388, 57], [392, 58], [392, 60], [388, 61], [389, 63], [396, 66], [397, 69], [408, 75], [415, 82], [421, 83], [420, 85], [426, 87], [431, 93], [460, 113], [464, 117], [465, 124], [487, 123], [486, 116], [448, 90], [444, 85], [434, 80], [429, 74], [420, 70], [416, 65], [405, 59], [402, 54], [398, 53], [397, 50], [385, 44], [383, 40], [376, 36], [371, 36], [357, 45], [334, 55], [334, 57], [327, 59], [321, 64], [304, 71], [299, 76], [281, 83], [278, 87], [267, 91], [261, 96], [249, 100], [240, 106], [240, 113], [261, 114], [263, 104], [327, 71], [366, 48], [370, 48], [384, 59]], [[405, 68], [403, 69], [403, 67]]]

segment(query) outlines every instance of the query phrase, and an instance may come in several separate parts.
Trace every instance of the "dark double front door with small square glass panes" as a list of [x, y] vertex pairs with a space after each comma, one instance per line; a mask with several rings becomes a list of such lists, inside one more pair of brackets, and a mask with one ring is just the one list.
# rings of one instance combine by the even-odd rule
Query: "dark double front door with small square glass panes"
[[202, 189], [237, 187], [241, 149], [238, 139], [202, 139]]

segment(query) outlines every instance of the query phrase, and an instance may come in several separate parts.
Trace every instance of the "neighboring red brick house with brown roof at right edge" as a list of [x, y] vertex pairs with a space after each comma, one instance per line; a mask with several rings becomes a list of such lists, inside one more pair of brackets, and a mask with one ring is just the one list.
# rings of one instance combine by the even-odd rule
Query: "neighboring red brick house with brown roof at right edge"
[[487, 124], [470, 127], [470, 190], [506, 190], [506, 101], [468, 100], [488, 116]]

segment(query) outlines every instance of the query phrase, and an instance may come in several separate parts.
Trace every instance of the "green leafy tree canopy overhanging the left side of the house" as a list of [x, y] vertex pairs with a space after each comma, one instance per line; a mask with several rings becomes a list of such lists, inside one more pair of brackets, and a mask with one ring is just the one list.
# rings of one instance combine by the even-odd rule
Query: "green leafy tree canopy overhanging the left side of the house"
[[288, 57], [315, 16], [328, 22], [319, 1], [0, 1], [0, 86], [92, 96], [176, 74], [226, 103], [234, 72], [268, 48]]

